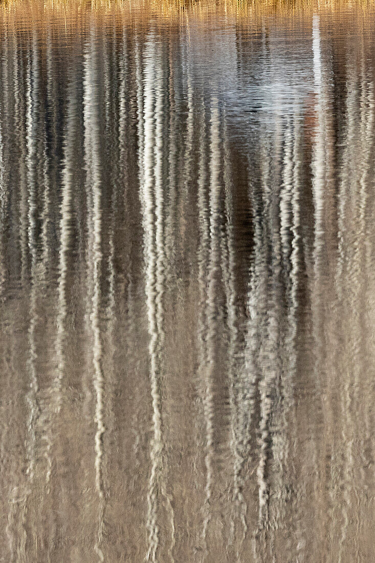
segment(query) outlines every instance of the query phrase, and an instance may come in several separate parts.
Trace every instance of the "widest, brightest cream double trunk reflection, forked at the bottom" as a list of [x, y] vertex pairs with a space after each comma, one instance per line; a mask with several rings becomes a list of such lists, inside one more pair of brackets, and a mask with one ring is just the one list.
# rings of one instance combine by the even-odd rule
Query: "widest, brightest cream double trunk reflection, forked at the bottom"
[[[144, 176], [141, 203], [144, 223], [145, 291], [150, 335], [150, 382], [153, 410], [153, 438], [151, 440], [151, 472], [148, 489], [148, 551], [146, 561], [157, 561], [159, 546], [159, 490], [165, 499], [171, 522], [169, 556], [173, 560], [175, 520], [171, 495], [165, 482], [164, 435], [162, 419], [165, 249], [164, 195], [162, 182], [163, 149], [163, 70], [161, 53], [154, 41], [145, 49], [144, 70]], [[154, 117], [155, 112], [155, 117]], [[153, 173], [153, 164], [155, 166]]]

